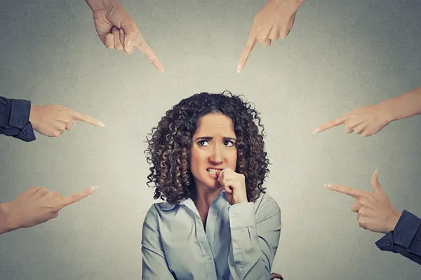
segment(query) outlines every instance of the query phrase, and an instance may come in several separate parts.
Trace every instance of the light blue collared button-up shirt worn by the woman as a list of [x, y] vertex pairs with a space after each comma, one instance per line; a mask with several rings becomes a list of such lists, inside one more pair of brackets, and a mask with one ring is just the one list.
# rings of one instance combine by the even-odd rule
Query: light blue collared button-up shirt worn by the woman
[[269, 279], [281, 210], [267, 193], [230, 205], [222, 190], [206, 219], [191, 199], [152, 204], [142, 230], [142, 279]]

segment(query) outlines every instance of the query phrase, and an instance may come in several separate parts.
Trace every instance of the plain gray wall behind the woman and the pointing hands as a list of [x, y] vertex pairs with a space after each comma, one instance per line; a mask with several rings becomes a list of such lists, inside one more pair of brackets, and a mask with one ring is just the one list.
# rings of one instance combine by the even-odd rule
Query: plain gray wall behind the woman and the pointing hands
[[97, 192], [44, 225], [1, 235], [0, 279], [140, 279], [146, 186], [145, 135], [195, 92], [231, 90], [262, 112], [272, 173], [266, 186], [282, 210], [273, 271], [288, 279], [420, 279], [410, 260], [377, 249], [352, 200], [335, 182], [380, 183], [399, 210], [421, 215], [419, 116], [373, 137], [344, 127], [312, 130], [356, 106], [421, 86], [421, 2], [315, 0], [298, 10], [286, 40], [257, 45], [236, 63], [265, 1], [121, 0], [165, 66], [140, 52], [107, 50], [79, 1], [1, 1], [0, 94], [62, 104], [105, 123], [77, 123], [32, 143], [0, 137], [0, 201], [31, 186], [69, 195]]

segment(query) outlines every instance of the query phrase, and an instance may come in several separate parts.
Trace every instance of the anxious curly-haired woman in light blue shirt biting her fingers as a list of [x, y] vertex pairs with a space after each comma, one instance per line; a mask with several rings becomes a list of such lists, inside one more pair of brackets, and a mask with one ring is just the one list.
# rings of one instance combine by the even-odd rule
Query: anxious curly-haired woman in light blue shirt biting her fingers
[[230, 92], [194, 94], [166, 112], [147, 139], [148, 186], [166, 202], [143, 223], [143, 279], [269, 279], [281, 213], [262, 188], [263, 130]]

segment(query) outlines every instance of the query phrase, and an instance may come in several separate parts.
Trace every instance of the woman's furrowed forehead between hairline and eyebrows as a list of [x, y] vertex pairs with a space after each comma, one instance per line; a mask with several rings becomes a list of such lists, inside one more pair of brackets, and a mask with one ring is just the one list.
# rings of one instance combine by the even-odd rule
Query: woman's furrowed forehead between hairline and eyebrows
[[208, 113], [199, 119], [195, 135], [199, 134], [224, 134], [225, 137], [234, 137], [234, 124], [231, 118], [222, 113]]

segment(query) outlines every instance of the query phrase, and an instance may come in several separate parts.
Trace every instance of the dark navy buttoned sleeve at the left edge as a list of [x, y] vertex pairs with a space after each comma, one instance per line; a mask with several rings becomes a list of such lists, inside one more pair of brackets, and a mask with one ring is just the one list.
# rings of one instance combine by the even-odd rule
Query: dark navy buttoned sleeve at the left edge
[[30, 112], [29, 100], [0, 97], [0, 134], [25, 142], [34, 141], [36, 138], [29, 122]]

